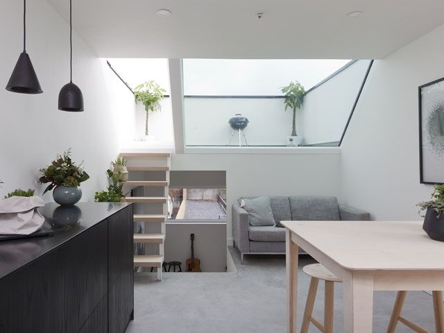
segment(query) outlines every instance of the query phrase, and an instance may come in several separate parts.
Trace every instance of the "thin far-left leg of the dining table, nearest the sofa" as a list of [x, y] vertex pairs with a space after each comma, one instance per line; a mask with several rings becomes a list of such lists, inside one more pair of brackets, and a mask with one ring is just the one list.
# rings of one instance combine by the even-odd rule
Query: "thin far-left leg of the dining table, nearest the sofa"
[[298, 300], [298, 245], [291, 241], [291, 232], [286, 231], [287, 266], [287, 332], [296, 333], [296, 310]]

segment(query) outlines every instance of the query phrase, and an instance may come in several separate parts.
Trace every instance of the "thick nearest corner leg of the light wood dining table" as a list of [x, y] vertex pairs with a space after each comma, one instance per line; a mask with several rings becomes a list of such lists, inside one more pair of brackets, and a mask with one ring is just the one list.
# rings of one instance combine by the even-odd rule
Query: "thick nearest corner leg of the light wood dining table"
[[344, 332], [371, 333], [373, 276], [349, 273], [343, 278]]

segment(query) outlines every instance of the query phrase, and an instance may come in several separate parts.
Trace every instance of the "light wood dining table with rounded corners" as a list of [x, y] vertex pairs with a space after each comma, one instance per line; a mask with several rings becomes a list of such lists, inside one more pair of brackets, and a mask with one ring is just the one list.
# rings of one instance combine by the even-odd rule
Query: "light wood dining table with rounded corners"
[[444, 242], [430, 239], [422, 221], [281, 223], [287, 228], [288, 333], [296, 333], [298, 248], [343, 280], [345, 333], [372, 332], [373, 291], [444, 289]]

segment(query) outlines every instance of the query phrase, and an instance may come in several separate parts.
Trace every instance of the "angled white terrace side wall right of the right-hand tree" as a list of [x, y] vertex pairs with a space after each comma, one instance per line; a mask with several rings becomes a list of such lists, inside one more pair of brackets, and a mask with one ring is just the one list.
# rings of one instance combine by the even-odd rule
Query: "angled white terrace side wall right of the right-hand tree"
[[341, 139], [368, 64], [368, 60], [354, 62], [305, 96], [298, 120], [306, 144]]

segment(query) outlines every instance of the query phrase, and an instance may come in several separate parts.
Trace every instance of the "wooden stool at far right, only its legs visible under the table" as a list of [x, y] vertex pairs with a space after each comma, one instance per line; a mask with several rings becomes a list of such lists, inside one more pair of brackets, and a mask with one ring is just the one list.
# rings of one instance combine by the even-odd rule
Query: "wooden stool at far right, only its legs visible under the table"
[[[432, 291], [433, 296], [433, 309], [435, 314], [435, 330], [436, 333], [444, 333], [444, 316], [443, 316], [443, 292]], [[414, 332], [427, 333], [422, 327], [412, 323], [406, 318], [401, 316], [402, 305], [407, 298], [407, 291], [398, 291], [396, 295], [395, 305], [391, 313], [390, 323], [388, 323], [387, 333], [394, 333], [398, 321], [409, 327]]]

